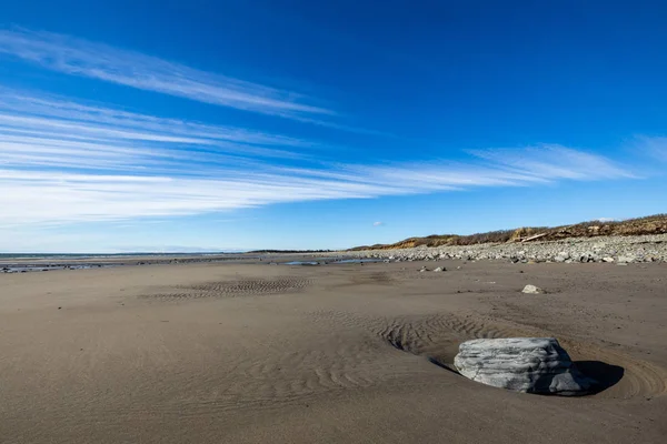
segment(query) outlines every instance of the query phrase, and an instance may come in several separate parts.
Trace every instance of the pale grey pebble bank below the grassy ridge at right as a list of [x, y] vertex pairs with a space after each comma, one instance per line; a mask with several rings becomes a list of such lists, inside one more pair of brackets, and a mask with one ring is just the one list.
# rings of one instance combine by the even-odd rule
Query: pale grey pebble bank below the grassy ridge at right
[[550, 242], [490, 243], [465, 246], [419, 246], [402, 250], [346, 252], [352, 258], [390, 261], [459, 259], [510, 262], [667, 262], [667, 234], [639, 236], [570, 238]]

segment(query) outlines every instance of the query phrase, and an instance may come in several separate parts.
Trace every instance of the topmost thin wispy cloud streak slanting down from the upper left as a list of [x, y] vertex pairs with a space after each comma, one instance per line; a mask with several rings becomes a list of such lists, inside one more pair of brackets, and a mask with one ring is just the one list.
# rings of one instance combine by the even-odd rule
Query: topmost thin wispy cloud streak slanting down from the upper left
[[0, 53], [52, 71], [239, 110], [298, 119], [335, 114], [295, 91], [58, 33], [0, 30]]

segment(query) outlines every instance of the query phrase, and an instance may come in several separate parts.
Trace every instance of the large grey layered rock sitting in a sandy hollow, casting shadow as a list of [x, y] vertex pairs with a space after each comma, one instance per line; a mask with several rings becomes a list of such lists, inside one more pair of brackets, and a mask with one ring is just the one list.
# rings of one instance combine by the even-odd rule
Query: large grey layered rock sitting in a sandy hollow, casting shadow
[[460, 344], [454, 365], [472, 381], [517, 392], [571, 396], [587, 394], [595, 384], [555, 337], [467, 341]]

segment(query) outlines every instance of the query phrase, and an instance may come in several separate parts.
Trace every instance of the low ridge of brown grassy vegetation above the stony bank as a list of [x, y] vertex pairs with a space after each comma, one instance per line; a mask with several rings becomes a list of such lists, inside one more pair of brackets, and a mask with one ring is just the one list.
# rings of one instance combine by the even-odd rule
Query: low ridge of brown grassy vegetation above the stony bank
[[[432, 234], [426, 238], [408, 238], [392, 244], [364, 245], [350, 249], [358, 250], [391, 250], [410, 249], [415, 246], [474, 245], [480, 243], [555, 241], [565, 238], [593, 238], [599, 235], [638, 235], [667, 233], [667, 214], [656, 214], [646, 218], [628, 219], [625, 221], [589, 221], [563, 226], [527, 226], [516, 230], [498, 230], [487, 233], [468, 235]], [[539, 235], [539, 236], [538, 236]]]

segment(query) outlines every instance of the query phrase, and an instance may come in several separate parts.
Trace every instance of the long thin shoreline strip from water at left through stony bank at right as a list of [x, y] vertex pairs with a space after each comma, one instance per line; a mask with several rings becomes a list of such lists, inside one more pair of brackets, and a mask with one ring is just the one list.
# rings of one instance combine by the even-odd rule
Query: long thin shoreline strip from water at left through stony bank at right
[[[525, 243], [485, 243], [466, 246], [417, 246], [411, 249], [331, 251], [303, 253], [202, 253], [202, 254], [123, 254], [54, 258], [0, 258], [0, 273], [21, 273], [96, 268], [166, 265], [187, 263], [262, 263], [326, 265], [335, 261], [418, 262], [438, 260], [509, 261], [512, 263], [667, 263], [667, 234], [638, 236], [569, 238]], [[299, 261], [301, 260], [301, 261]], [[291, 263], [290, 263], [291, 262]], [[301, 263], [299, 263], [301, 262]]]

